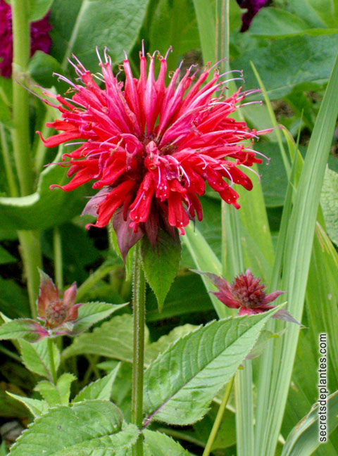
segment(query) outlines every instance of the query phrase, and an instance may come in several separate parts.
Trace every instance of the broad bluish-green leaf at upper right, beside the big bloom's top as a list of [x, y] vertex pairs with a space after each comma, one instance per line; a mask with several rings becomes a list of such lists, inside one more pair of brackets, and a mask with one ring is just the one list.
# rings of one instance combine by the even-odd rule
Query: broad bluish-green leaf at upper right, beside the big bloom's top
[[[272, 40], [263, 48], [243, 53], [232, 68], [244, 70], [244, 87], [257, 86], [253, 61], [271, 100], [289, 94], [294, 87], [314, 89], [330, 77], [338, 47], [338, 34]], [[315, 85], [314, 85], [315, 84]]]

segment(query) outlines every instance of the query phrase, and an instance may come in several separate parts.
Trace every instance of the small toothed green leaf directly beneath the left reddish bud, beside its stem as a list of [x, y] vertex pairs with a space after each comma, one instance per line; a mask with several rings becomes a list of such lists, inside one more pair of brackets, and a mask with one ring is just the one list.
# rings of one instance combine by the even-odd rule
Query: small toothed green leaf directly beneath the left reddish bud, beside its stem
[[[35, 374], [46, 377], [49, 381], [52, 381], [51, 377], [51, 361], [49, 358], [48, 351], [48, 338], [43, 338], [42, 341], [37, 343], [29, 343], [20, 339], [21, 357], [23, 358], [23, 364], [27, 369]], [[52, 342], [53, 356], [55, 369], [58, 369], [60, 364], [60, 352], [56, 347], [56, 344]]]

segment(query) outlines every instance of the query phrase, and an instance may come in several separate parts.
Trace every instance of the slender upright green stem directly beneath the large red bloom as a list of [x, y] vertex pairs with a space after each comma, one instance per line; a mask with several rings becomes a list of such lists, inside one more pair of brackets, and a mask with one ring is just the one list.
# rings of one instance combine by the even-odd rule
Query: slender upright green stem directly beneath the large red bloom
[[[132, 284], [132, 305], [134, 318], [134, 352], [132, 362], [132, 423], [141, 430], [143, 420], [143, 372], [144, 372], [144, 315], [145, 280], [141, 258], [141, 243], [135, 248], [135, 262]], [[143, 440], [139, 436], [132, 448], [133, 456], [143, 456]]]

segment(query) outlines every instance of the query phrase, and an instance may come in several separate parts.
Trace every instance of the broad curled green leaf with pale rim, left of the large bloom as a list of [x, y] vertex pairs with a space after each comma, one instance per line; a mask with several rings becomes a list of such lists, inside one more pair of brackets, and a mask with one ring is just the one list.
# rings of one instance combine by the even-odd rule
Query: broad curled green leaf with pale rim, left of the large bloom
[[[55, 163], [61, 161], [61, 151]], [[49, 189], [51, 184], [63, 185], [69, 181], [64, 167], [50, 165], [39, 177], [37, 191], [18, 198], [0, 197], [1, 227], [4, 229], [46, 229], [66, 222], [83, 209], [85, 186], [71, 194], [61, 189]], [[80, 203], [79, 203], [80, 201]]]

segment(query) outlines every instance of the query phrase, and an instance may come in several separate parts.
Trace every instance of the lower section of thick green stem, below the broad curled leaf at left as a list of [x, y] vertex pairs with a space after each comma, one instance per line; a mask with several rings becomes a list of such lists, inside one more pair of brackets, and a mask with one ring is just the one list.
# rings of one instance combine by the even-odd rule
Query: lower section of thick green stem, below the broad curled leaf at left
[[27, 279], [28, 296], [30, 298], [30, 312], [32, 318], [37, 316], [36, 298], [39, 291], [39, 269], [42, 269], [42, 254], [39, 242], [39, 233], [32, 231], [18, 231], [20, 253], [23, 258], [25, 277]]

